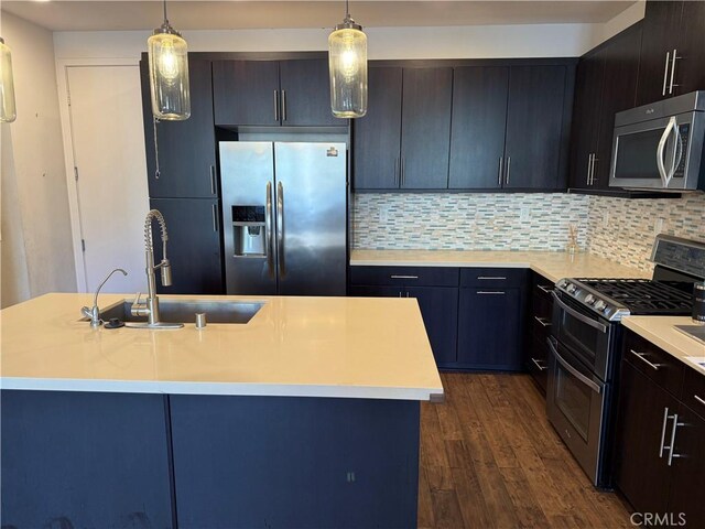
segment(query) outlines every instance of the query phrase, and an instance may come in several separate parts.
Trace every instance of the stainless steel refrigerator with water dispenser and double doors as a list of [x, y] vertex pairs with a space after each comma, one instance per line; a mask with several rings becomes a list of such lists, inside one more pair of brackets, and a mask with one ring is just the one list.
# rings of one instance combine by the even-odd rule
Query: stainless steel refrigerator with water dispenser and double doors
[[228, 294], [345, 295], [345, 143], [220, 142]]

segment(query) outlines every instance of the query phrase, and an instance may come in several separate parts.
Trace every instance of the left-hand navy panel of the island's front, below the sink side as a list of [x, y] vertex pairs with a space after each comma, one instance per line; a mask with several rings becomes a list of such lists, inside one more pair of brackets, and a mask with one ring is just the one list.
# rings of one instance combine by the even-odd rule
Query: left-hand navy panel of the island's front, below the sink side
[[175, 528], [165, 397], [3, 390], [3, 528]]

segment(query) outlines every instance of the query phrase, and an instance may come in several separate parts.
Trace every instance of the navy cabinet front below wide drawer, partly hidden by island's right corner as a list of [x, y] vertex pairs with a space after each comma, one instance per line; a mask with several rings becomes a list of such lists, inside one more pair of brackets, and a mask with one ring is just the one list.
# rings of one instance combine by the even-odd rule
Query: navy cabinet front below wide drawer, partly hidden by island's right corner
[[350, 295], [415, 298], [438, 367], [455, 363], [458, 321], [457, 287], [350, 285]]

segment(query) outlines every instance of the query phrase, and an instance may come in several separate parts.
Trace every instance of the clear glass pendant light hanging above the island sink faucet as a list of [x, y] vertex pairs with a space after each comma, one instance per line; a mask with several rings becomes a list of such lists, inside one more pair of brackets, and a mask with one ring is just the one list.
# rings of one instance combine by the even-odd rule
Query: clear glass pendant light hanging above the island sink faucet
[[166, 18], [147, 41], [150, 63], [152, 114], [158, 119], [182, 121], [191, 116], [188, 90], [188, 48]]

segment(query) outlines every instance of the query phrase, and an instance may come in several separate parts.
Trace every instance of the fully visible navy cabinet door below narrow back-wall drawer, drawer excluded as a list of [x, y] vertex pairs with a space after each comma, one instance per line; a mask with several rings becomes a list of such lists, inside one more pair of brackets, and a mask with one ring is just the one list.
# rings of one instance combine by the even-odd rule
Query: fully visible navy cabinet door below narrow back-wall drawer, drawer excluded
[[458, 367], [521, 369], [521, 289], [460, 289]]

